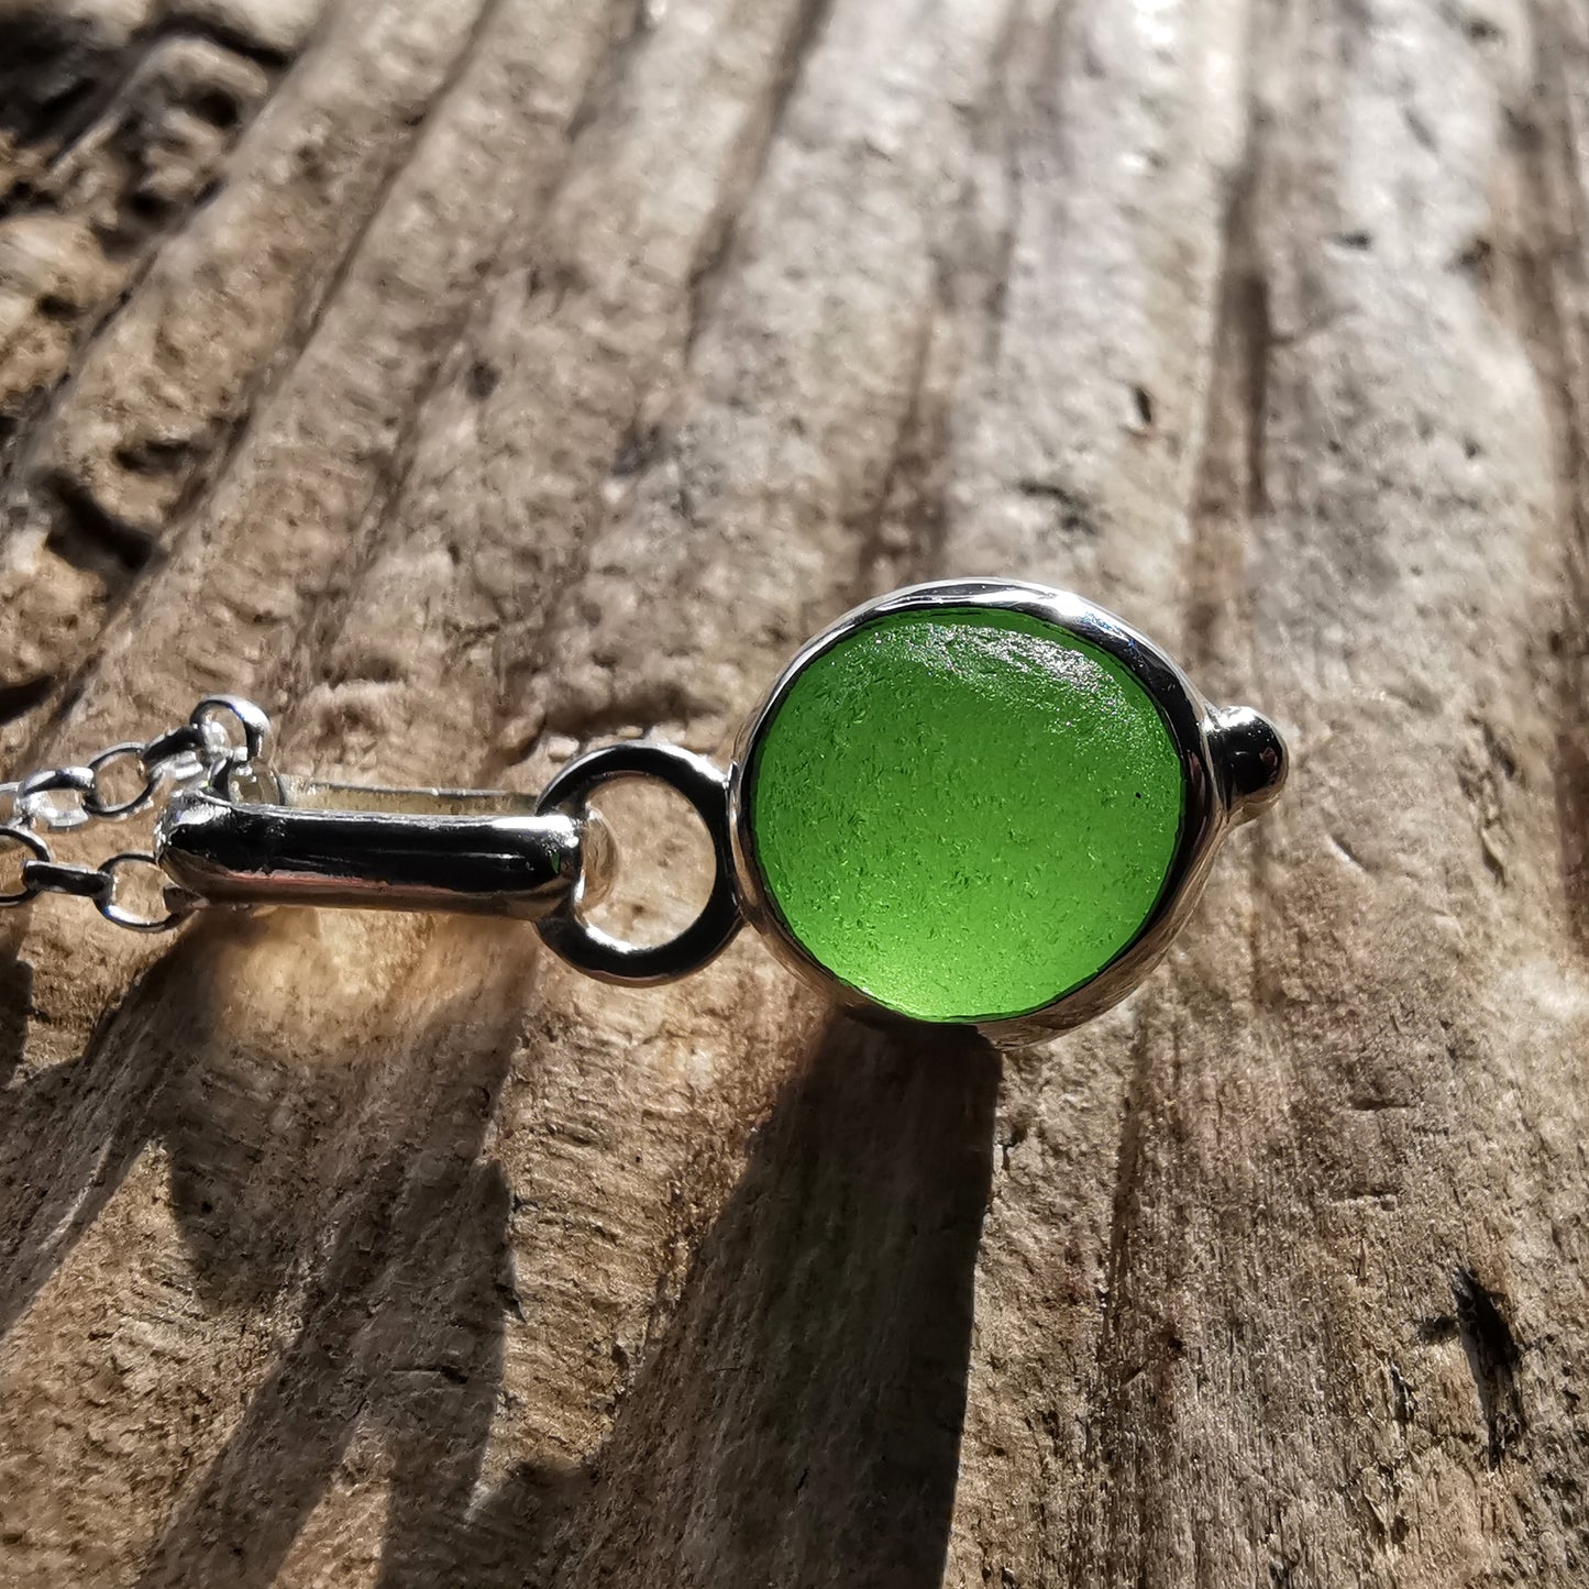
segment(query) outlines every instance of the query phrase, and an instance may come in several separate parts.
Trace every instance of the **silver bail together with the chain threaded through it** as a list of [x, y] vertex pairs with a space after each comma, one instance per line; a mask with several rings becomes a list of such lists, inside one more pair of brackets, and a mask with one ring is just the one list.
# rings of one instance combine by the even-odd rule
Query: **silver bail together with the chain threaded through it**
[[[24, 852], [21, 887], [0, 893], [0, 907], [68, 895], [118, 926], [157, 933], [203, 904], [535, 920], [569, 903], [591, 904], [607, 888], [613, 847], [594, 814], [540, 814], [526, 794], [276, 774], [264, 761], [269, 744], [270, 718], [253, 701], [207, 696], [188, 721], [149, 740], [0, 785], [0, 855]], [[97, 866], [57, 860], [44, 837], [149, 810], [157, 812], [153, 850], [126, 850]], [[157, 910], [129, 899], [140, 874], [159, 896]]]

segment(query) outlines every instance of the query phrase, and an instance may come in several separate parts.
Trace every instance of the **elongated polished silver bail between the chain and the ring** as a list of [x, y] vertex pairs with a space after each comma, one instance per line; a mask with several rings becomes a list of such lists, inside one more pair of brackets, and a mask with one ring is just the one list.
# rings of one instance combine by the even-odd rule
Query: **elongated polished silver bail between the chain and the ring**
[[594, 903], [612, 839], [594, 814], [535, 815], [472, 790], [373, 790], [249, 772], [178, 794], [154, 858], [210, 904], [350, 906], [542, 917]]

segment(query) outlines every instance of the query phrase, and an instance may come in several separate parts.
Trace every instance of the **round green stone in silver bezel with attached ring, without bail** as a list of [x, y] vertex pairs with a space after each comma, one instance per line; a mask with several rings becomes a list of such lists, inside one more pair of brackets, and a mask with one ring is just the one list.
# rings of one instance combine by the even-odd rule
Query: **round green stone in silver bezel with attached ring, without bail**
[[1225, 833], [1276, 799], [1286, 771], [1273, 723], [1211, 707], [1093, 602], [1001, 580], [917, 585], [817, 636], [726, 775], [631, 744], [570, 763], [542, 796], [577, 809], [609, 775], [642, 772], [679, 788], [718, 855], [688, 942], [631, 958], [574, 912], [540, 930], [594, 976], [664, 980], [747, 920], [861, 1015], [1036, 1041], [1147, 976]]

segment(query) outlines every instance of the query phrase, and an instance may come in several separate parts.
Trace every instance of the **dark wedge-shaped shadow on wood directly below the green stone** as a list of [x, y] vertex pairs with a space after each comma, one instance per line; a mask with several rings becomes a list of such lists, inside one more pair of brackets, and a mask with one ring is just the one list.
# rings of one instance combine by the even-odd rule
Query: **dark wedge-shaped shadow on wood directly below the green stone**
[[[529, 1581], [942, 1581], [996, 1090], [976, 1038], [825, 1031]], [[481, 1508], [481, 1589], [543, 1494]]]

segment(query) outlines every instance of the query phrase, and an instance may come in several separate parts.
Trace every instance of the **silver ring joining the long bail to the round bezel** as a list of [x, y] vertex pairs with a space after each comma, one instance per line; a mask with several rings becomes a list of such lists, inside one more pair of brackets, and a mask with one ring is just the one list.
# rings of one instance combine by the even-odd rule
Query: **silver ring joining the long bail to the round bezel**
[[604, 982], [672, 982], [720, 955], [742, 925], [728, 839], [728, 775], [706, 756], [677, 745], [644, 740], [602, 745], [570, 761], [542, 790], [535, 812], [578, 810], [596, 788], [617, 779], [656, 779], [694, 807], [712, 839], [713, 863], [712, 893], [701, 914], [666, 944], [626, 944], [580, 920], [574, 903], [535, 926], [548, 949]]

